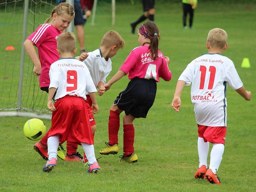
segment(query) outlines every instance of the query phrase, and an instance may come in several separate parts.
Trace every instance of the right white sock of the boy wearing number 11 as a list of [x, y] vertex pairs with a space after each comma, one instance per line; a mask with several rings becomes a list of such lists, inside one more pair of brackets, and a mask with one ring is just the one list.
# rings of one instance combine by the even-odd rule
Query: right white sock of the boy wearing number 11
[[223, 152], [224, 145], [222, 143], [213, 143], [209, 169], [211, 169], [214, 174], [216, 174], [219, 169]]

